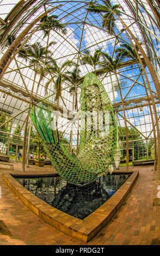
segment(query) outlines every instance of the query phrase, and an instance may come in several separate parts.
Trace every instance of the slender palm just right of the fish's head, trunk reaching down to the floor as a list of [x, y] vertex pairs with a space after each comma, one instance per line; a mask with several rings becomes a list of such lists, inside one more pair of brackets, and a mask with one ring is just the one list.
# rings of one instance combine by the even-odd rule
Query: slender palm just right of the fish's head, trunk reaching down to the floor
[[106, 69], [107, 72], [113, 72], [116, 77], [117, 82], [117, 89], [119, 90], [121, 101], [122, 101], [122, 108], [124, 112], [124, 123], [125, 123], [125, 130], [126, 130], [126, 169], [128, 170], [129, 167], [129, 145], [128, 145], [128, 129], [127, 129], [127, 121], [126, 121], [126, 113], [125, 113], [125, 105], [124, 100], [122, 97], [122, 91], [121, 91], [121, 84], [119, 82], [118, 76], [116, 74], [116, 69], [118, 69], [119, 63], [124, 59], [124, 56], [118, 55], [113, 59], [111, 56], [109, 56], [108, 53], [102, 53], [103, 61], [100, 63], [100, 65]]

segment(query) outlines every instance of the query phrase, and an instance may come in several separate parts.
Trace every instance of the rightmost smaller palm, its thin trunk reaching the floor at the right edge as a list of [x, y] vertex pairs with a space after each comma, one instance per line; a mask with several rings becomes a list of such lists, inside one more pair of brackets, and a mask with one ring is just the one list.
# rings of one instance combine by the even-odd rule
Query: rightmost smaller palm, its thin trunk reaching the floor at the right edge
[[[119, 56], [119, 54], [122, 54], [123, 56], [126, 56], [126, 58], [130, 58], [130, 59], [135, 60], [137, 62], [138, 67], [139, 67], [139, 57], [140, 57], [140, 54], [139, 54], [139, 57], [138, 57], [138, 55], [137, 55], [138, 50], [139, 50], [138, 47], [135, 46], [136, 51], [137, 51], [136, 52], [131, 45], [121, 44], [120, 46], [121, 46], [121, 48], [117, 48], [115, 50], [117, 55]], [[142, 62], [143, 62], [143, 65], [145, 65], [143, 60], [142, 60]], [[139, 67], [139, 70], [140, 70], [140, 67]], [[143, 72], [146, 73], [145, 69], [143, 69]], [[144, 83], [144, 87], [145, 87], [145, 92], [146, 92], [146, 95], [147, 95], [147, 101], [149, 102], [149, 109], [150, 109], [151, 120], [152, 120], [153, 135], [154, 135], [154, 141], [155, 141], [155, 163], [154, 163], [154, 169], [156, 170], [157, 169], [157, 142], [156, 142], [155, 121], [153, 119], [153, 113], [152, 113], [150, 98], [149, 98], [149, 94], [147, 92], [147, 88], [146, 88], [146, 85], [145, 85], [145, 80], [144, 80], [143, 75], [141, 75], [141, 77], [143, 79], [143, 83]], [[150, 94], [152, 94], [151, 88], [150, 88], [150, 84], [148, 84], [148, 86], [149, 86]], [[155, 106], [155, 100], [154, 100], [153, 97], [151, 97], [151, 101], [152, 101], [153, 109], [154, 109], [154, 111], [155, 111], [155, 113], [157, 115], [157, 110], [156, 110], [156, 106]], [[159, 138], [159, 133], [158, 132], [157, 132], [157, 138]], [[158, 143], [158, 148], [159, 147], [160, 147], [160, 144]], [[159, 162], [159, 159], [158, 159], [158, 162]]]

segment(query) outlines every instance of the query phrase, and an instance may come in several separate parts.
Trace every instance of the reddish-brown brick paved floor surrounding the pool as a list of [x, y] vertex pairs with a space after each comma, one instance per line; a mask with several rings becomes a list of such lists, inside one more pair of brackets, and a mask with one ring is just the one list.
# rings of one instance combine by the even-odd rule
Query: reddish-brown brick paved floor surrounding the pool
[[[121, 170], [123, 169], [124, 167], [121, 167]], [[126, 202], [89, 245], [160, 245], [160, 206], [153, 206], [153, 198], [156, 197], [160, 180], [159, 184], [152, 181], [155, 175], [155, 172], [151, 171], [153, 166], [130, 167], [130, 170], [137, 169], [139, 178]], [[38, 168], [38, 172], [44, 171], [52, 173], [53, 168]], [[14, 172], [21, 172], [20, 164], [14, 165]], [[26, 172], [38, 173], [33, 166], [26, 168]], [[0, 233], [0, 245], [86, 244], [61, 233], [33, 214], [17, 199], [1, 176], [0, 186], [0, 221], [7, 225], [12, 234], [8, 236]]]

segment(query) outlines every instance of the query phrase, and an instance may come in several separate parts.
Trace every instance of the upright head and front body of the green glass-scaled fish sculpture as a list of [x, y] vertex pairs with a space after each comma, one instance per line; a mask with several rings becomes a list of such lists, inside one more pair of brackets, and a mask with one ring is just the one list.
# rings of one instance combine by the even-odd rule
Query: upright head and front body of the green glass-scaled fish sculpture
[[109, 96], [101, 81], [89, 72], [83, 81], [81, 133], [78, 159], [83, 169], [108, 172], [116, 149], [116, 122]]

